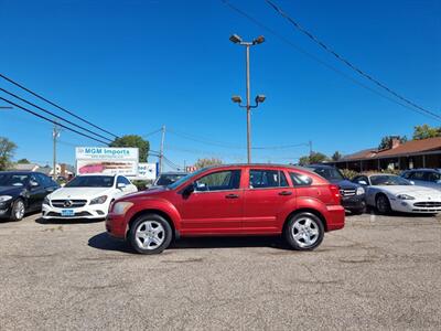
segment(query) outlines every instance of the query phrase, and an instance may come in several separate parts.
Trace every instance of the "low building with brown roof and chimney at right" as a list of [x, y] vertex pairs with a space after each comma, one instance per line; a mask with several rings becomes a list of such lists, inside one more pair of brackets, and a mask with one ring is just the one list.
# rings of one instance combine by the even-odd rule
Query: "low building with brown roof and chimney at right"
[[441, 168], [441, 137], [400, 142], [391, 139], [387, 149], [365, 149], [333, 161], [341, 169], [358, 172], [369, 170], [406, 170], [413, 168]]

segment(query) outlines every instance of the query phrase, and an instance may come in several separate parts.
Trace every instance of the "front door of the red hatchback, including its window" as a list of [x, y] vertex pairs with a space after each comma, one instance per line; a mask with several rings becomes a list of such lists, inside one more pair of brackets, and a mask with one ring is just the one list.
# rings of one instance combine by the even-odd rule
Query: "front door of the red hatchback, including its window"
[[182, 234], [235, 234], [240, 232], [244, 190], [240, 169], [218, 170], [197, 178], [194, 192], [176, 203]]

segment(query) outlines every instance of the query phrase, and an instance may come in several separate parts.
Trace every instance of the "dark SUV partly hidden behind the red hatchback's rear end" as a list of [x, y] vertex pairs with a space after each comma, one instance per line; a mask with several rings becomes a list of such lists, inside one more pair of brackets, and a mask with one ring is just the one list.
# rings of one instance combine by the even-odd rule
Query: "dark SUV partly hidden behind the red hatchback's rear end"
[[338, 169], [327, 164], [311, 164], [308, 168], [329, 182], [338, 185], [345, 210], [353, 214], [363, 214], [366, 211], [365, 189], [348, 181]]

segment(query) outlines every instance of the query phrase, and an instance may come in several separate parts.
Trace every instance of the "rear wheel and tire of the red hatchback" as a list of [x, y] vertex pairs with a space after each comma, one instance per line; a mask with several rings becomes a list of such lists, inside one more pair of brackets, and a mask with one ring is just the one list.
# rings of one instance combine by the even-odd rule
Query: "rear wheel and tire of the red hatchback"
[[312, 250], [323, 241], [324, 226], [322, 220], [312, 213], [299, 213], [290, 217], [284, 226], [283, 235], [291, 248]]

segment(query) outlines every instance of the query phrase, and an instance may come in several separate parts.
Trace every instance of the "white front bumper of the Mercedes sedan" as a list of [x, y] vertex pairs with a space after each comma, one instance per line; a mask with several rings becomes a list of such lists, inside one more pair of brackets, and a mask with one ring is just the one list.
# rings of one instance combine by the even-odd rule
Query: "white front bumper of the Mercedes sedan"
[[[106, 218], [107, 213], [109, 211], [108, 204], [93, 204], [85, 205], [83, 207], [72, 209], [74, 211], [73, 216], [62, 216], [62, 211], [65, 209], [54, 207], [47, 204], [43, 204], [42, 207], [42, 217], [44, 220], [77, 220], [77, 218], [87, 218], [87, 220], [99, 220]], [[69, 209], [66, 209], [69, 210]]]

